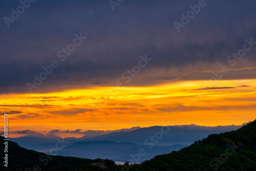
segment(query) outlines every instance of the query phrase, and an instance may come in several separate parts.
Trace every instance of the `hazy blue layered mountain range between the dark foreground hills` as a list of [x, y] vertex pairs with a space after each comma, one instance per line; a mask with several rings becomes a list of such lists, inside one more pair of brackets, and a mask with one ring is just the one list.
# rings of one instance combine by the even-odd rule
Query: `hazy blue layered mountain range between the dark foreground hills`
[[[151, 126], [130, 132], [115, 132], [92, 138], [65, 138], [65, 147], [58, 151], [58, 155], [80, 158], [108, 158], [115, 161], [132, 160], [130, 154], [138, 153], [140, 148], [147, 149], [147, 155], [141, 156], [140, 162], [151, 159], [156, 155], [179, 151], [196, 140], [209, 134], [237, 130], [241, 125], [229, 126]], [[63, 141], [51, 135], [50, 138], [19, 137], [9, 138], [20, 146], [38, 152], [49, 153], [56, 143]], [[52, 153], [54, 154], [54, 153]]]

